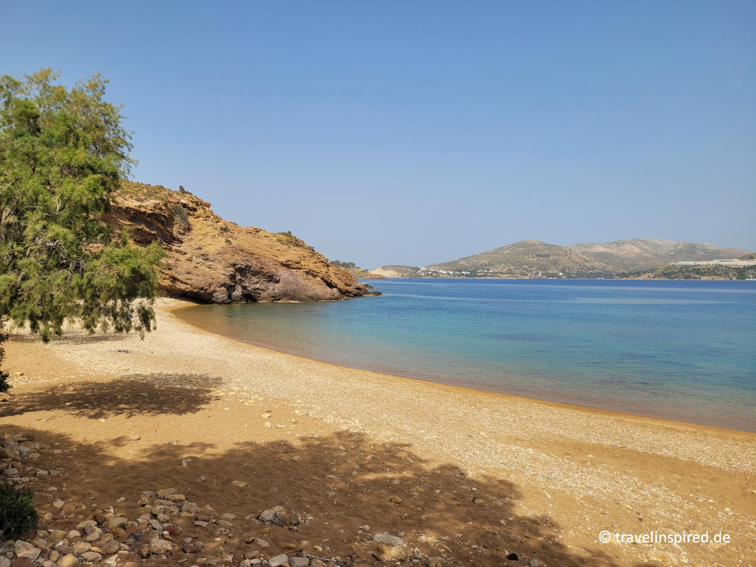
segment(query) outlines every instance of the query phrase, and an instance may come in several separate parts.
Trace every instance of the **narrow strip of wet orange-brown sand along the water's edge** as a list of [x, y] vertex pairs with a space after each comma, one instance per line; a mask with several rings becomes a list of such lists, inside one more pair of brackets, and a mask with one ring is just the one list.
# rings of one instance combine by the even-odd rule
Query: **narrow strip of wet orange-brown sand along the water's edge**
[[[401, 279], [401, 278], [397, 278]], [[441, 279], [441, 278], [421, 278], [421, 279]], [[492, 278], [467, 278], [467, 279], [492, 279]], [[501, 278], [497, 278], [501, 279]], [[301, 359], [302, 361], [308, 361], [312, 363], [317, 364], [325, 364], [327, 366], [333, 366], [336, 368], [342, 368], [346, 370], [355, 370], [358, 372], [368, 372], [368, 373], [374, 373], [377, 375], [382, 376], [383, 378], [387, 378], [389, 380], [412, 380], [414, 382], [420, 382], [420, 383], [427, 383], [432, 384], [435, 386], [445, 386], [447, 388], [451, 389], [461, 389], [462, 391], [471, 391], [471, 392], [479, 392], [481, 394], [490, 394], [490, 395], [499, 395], [503, 396], [504, 398], [514, 398], [516, 400], [522, 400], [522, 401], [528, 401], [532, 403], [540, 403], [540, 404], [550, 404], [554, 407], [562, 407], [565, 410], [573, 410], [573, 411], [585, 411], [588, 414], [595, 413], [595, 414], [604, 414], [607, 417], [611, 417], [612, 415], [627, 417], [627, 418], [639, 418], [640, 420], [658, 420], [661, 422], [660, 424], [664, 423], [676, 423], [678, 425], [683, 426], [693, 426], [693, 427], [703, 427], [703, 428], [709, 428], [709, 429], [717, 429], [720, 431], [728, 431], [728, 432], [742, 432], [742, 433], [748, 433], [754, 435], [754, 439], [756, 439], [756, 425], [754, 425], [754, 429], [735, 429], [733, 427], [727, 427], [727, 426], [717, 426], [717, 425], [711, 425], [709, 423], [697, 423], [694, 421], [686, 421], [686, 420], [680, 420], [675, 417], [663, 417], [659, 415], [648, 415], [648, 414], [636, 414], [631, 411], [621, 411], [621, 410], [614, 410], [614, 409], [607, 409], [605, 407], [595, 407], [591, 405], [584, 405], [584, 404], [576, 404], [569, 401], [556, 401], [556, 400], [549, 400], [544, 398], [537, 398], [534, 396], [528, 396], [528, 395], [519, 395], [519, 394], [512, 394], [509, 392], [500, 392], [494, 389], [485, 389], [480, 388], [472, 385], [460, 385], [460, 384], [454, 384], [451, 383], [453, 379], [449, 379], [450, 382], [443, 382], [438, 381], [434, 379], [434, 376], [428, 376], [428, 377], [420, 377], [420, 376], [399, 376], [398, 374], [392, 374], [388, 372], [384, 372], [383, 370], [378, 369], [371, 369], [371, 368], [358, 368], [358, 367], [352, 367], [347, 366], [344, 364], [337, 364], [335, 362], [329, 362], [329, 361], [321, 361], [317, 358], [308, 358], [306, 356], [297, 355], [293, 352], [286, 352], [286, 351], [280, 351], [265, 345], [259, 345], [254, 342], [247, 342], [241, 339], [237, 339], [233, 336], [228, 336], [223, 333], [218, 333], [215, 330], [211, 330], [206, 327], [202, 327], [200, 325], [194, 324], [191, 321], [188, 321], [186, 318], [181, 317], [178, 312], [183, 311], [184, 309], [191, 309], [193, 307], [196, 307], [198, 305], [206, 305], [200, 302], [195, 302], [191, 299], [176, 299], [177, 301], [186, 302], [188, 305], [175, 305], [172, 308], [167, 309], [166, 311], [174, 314], [176, 318], [178, 318], [182, 323], [187, 324], [191, 326], [192, 328], [199, 330], [202, 333], [209, 333], [215, 336], [222, 337], [224, 339], [228, 339], [234, 342], [239, 343], [240, 345], [249, 345], [256, 349], [263, 349], [268, 352], [274, 352], [277, 355], [283, 355], [283, 356], [292, 356], [298, 359]]]

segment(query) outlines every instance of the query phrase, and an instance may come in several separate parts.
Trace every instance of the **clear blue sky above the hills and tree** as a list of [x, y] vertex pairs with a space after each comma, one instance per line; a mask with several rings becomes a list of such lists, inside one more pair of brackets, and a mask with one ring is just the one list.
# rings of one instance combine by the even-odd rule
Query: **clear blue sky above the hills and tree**
[[0, 0], [0, 29], [0, 73], [110, 79], [136, 180], [330, 259], [756, 250], [753, 0]]

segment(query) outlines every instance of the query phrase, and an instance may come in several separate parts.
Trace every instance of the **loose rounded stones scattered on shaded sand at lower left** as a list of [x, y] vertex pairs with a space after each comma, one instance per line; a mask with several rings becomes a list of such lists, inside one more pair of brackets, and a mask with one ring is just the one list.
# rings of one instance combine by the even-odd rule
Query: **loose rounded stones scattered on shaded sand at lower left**
[[[324, 553], [322, 545], [311, 545], [301, 538], [297, 541], [297, 532], [314, 517], [302, 517], [280, 506], [240, 519], [235, 513], [218, 512], [209, 503], [200, 506], [175, 488], [142, 491], [135, 502], [127, 502], [121, 497], [115, 506], [107, 507], [100, 507], [96, 497], [90, 497], [86, 503], [68, 498], [66, 482], [61, 482], [66, 478], [61, 477], [63, 471], [39, 468], [35, 464], [48, 461], [43, 457], [54, 459], [56, 454], [72, 451], [76, 452], [76, 447], [54, 448], [36, 442], [33, 435], [0, 438], [0, 472], [4, 482], [20, 487], [31, 486], [47, 496], [42, 514], [45, 529], [36, 531], [33, 538], [6, 544], [5, 556], [0, 556], [0, 567], [136, 567], [184, 562], [198, 566], [239, 567], [355, 565], [351, 559], [318, 555]], [[48, 462], [44, 465], [48, 466]], [[206, 481], [204, 476], [195, 479], [200, 483]], [[243, 489], [247, 485], [246, 481], [231, 482], [233, 489]], [[271, 531], [277, 531], [277, 536], [290, 541], [271, 547], [271, 543], [265, 540], [272, 539]], [[370, 534], [368, 525], [361, 526], [358, 534], [354, 547], [367, 549], [373, 559], [408, 559], [401, 538], [391, 534]], [[227, 553], [221, 542], [233, 538], [243, 541], [246, 549]], [[271, 549], [275, 550], [272, 553], [280, 550], [285, 553], [271, 555]], [[426, 557], [417, 548], [411, 551], [409, 559], [415, 565], [427, 567], [440, 567], [445, 562], [442, 556]]]

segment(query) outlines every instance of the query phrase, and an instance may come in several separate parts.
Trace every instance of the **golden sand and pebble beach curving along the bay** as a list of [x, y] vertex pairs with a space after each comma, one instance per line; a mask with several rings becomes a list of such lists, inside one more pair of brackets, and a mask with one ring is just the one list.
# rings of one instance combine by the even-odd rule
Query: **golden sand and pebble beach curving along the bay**
[[[336, 367], [191, 327], [187, 305], [160, 299], [144, 340], [11, 336], [0, 433], [47, 447], [18, 475], [41, 529], [137, 522], [170, 488], [208, 525], [177, 507], [169, 555], [110, 560], [756, 565], [756, 434]], [[276, 506], [296, 524], [259, 519]], [[652, 532], [709, 541], [617, 541]]]

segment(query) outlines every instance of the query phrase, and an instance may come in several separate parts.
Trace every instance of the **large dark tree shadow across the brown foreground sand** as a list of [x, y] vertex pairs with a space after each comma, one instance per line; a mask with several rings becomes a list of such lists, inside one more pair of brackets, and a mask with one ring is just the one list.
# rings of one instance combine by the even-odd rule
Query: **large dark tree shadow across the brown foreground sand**
[[[222, 449], [210, 442], [152, 445], [127, 460], [110, 451], [121, 445], [118, 439], [79, 444], [61, 433], [13, 426], [5, 432], [64, 451], [42, 451], [33, 463], [62, 471], [32, 483], [42, 528], [72, 529], [110, 506], [137, 519], [147, 511], [137, 507], [142, 492], [167, 487], [200, 507], [212, 506], [212, 511], [203, 510], [211, 517], [207, 528], [195, 526], [194, 517], [171, 520], [184, 530], [175, 543], [200, 538], [205, 542], [200, 553], [185, 554], [178, 547], [167, 560], [152, 557], [143, 565], [175, 565], [184, 559], [192, 565], [200, 557], [212, 561], [230, 554], [238, 565], [253, 550], [267, 558], [302, 549], [338, 556], [337, 565], [385, 565], [373, 555], [371, 534], [376, 533], [404, 540], [408, 557], [401, 565], [412, 565], [415, 548], [426, 557], [444, 556], [442, 565], [617, 565], [601, 550], [560, 543], [560, 527], [550, 517], [517, 513], [522, 492], [513, 482], [470, 478], [457, 466], [423, 460], [408, 445], [373, 442], [360, 433], [311, 436], [296, 443], [243, 442]], [[214, 438], [212, 432], [208, 438]], [[50, 485], [65, 485], [65, 492], [50, 491]], [[62, 511], [51, 507], [57, 497], [67, 499]], [[256, 520], [262, 510], [275, 506], [296, 511], [302, 523], [287, 528]], [[223, 513], [236, 516], [232, 525], [223, 523]], [[270, 545], [246, 543], [254, 537]], [[315, 545], [322, 549], [314, 550]], [[518, 559], [507, 559], [510, 553]]]

